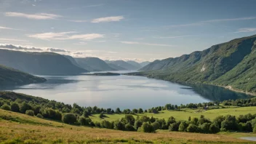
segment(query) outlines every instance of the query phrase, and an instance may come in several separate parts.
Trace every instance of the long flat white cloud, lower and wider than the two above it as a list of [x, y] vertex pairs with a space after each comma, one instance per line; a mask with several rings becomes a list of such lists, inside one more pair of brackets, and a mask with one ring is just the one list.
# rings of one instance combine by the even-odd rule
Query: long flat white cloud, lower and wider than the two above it
[[79, 39], [79, 40], [92, 40], [103, 38], [103, 34], [99, 33], [89, 33], [89, 34], [76, 34], [70, 35], [71, 33], [77, 33], [76, 31], [68, 31], [61, 33], [36, 33], [28, 35], [28, 37], [36, 38], [36, 39], [44, 39], [44, 40], [65, 40], [65, 39]]

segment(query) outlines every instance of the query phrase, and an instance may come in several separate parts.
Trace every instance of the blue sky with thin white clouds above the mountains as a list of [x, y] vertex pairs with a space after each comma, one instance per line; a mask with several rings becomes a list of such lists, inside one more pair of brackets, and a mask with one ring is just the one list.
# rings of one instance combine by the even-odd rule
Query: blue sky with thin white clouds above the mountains
[[254, 0], [0, 0], [0, 47], [137, 62], [256, 34]]

